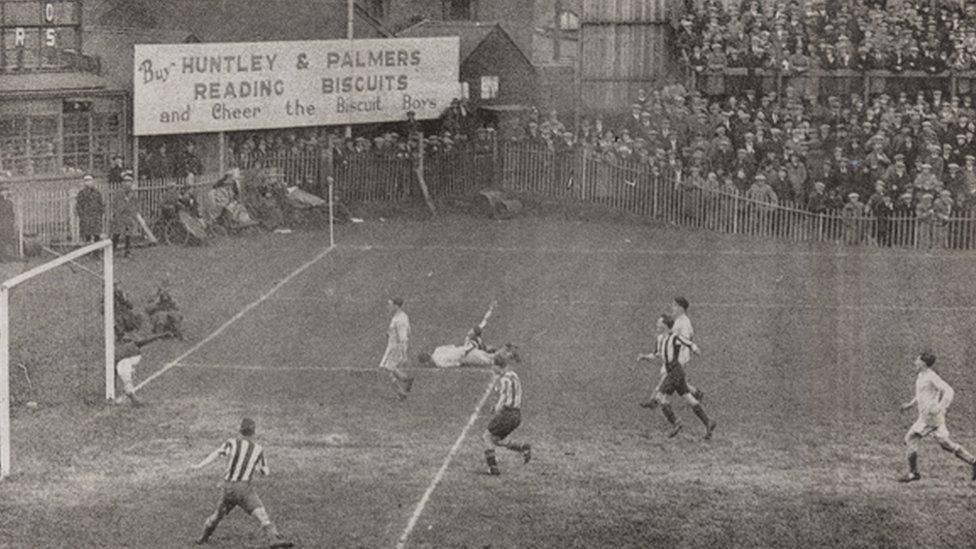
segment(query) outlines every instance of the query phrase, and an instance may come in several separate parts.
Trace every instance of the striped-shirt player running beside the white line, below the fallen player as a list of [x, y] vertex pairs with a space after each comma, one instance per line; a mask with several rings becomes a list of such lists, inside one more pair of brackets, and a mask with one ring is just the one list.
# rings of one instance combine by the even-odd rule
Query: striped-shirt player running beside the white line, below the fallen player
[[506, 442], [508, 435], [522, 424], [522, 382], [518, 374], [508, 369], [508, 364], [501, 356], [495, 357], [491, 372], [495, 375], [498, 402], [495, 403], [488, 429], [481, 438], [485, 441], [485, 461], [488, 462], [488, 471], [492, 475], [499, 475], [501, 471], [498, 470], [498, 460], [495, 458], [496, 446], [522, 454], [522, 462], [528, 463], [532, 459], [532, 445]]

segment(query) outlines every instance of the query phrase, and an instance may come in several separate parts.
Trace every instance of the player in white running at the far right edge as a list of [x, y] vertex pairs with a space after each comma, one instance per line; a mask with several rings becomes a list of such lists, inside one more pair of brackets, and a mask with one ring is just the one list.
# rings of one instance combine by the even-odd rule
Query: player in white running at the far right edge
[[939, 374], [932, 369], [935, 364], [935, 355], [932, 353], [922, 353], [915, 358], [913, 366], [918, 375], [915, 377], [915, 398], [901, 406], [901, 410], [909, 410], [913, 406], [918, 408], [918, 419], [905, 435], [905, 445], [908, 447], [908, 474], [902, 477], [901, 482], [913, 482], [922, 475], [918, 472], [918, 443], [930, 434], [935, 435], [935, 440], [946, 452], [951, 453], [972, 469], [972, 480], [976, 480], [976, 459], [966, 451], [960, 444], [949, 438], [949, 429], [946, 427], [945, 414], [952, 404], [952, 397], [955, 392], [952, 387], [945, 382]]

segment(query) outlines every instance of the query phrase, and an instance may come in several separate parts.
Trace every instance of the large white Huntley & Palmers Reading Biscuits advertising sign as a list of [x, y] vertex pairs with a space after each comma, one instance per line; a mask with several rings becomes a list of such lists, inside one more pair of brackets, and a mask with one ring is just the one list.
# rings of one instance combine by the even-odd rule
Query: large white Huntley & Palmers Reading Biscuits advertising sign
[[459, 97], [459, 40], [136, 45], [135, 135], [439, 117]]

